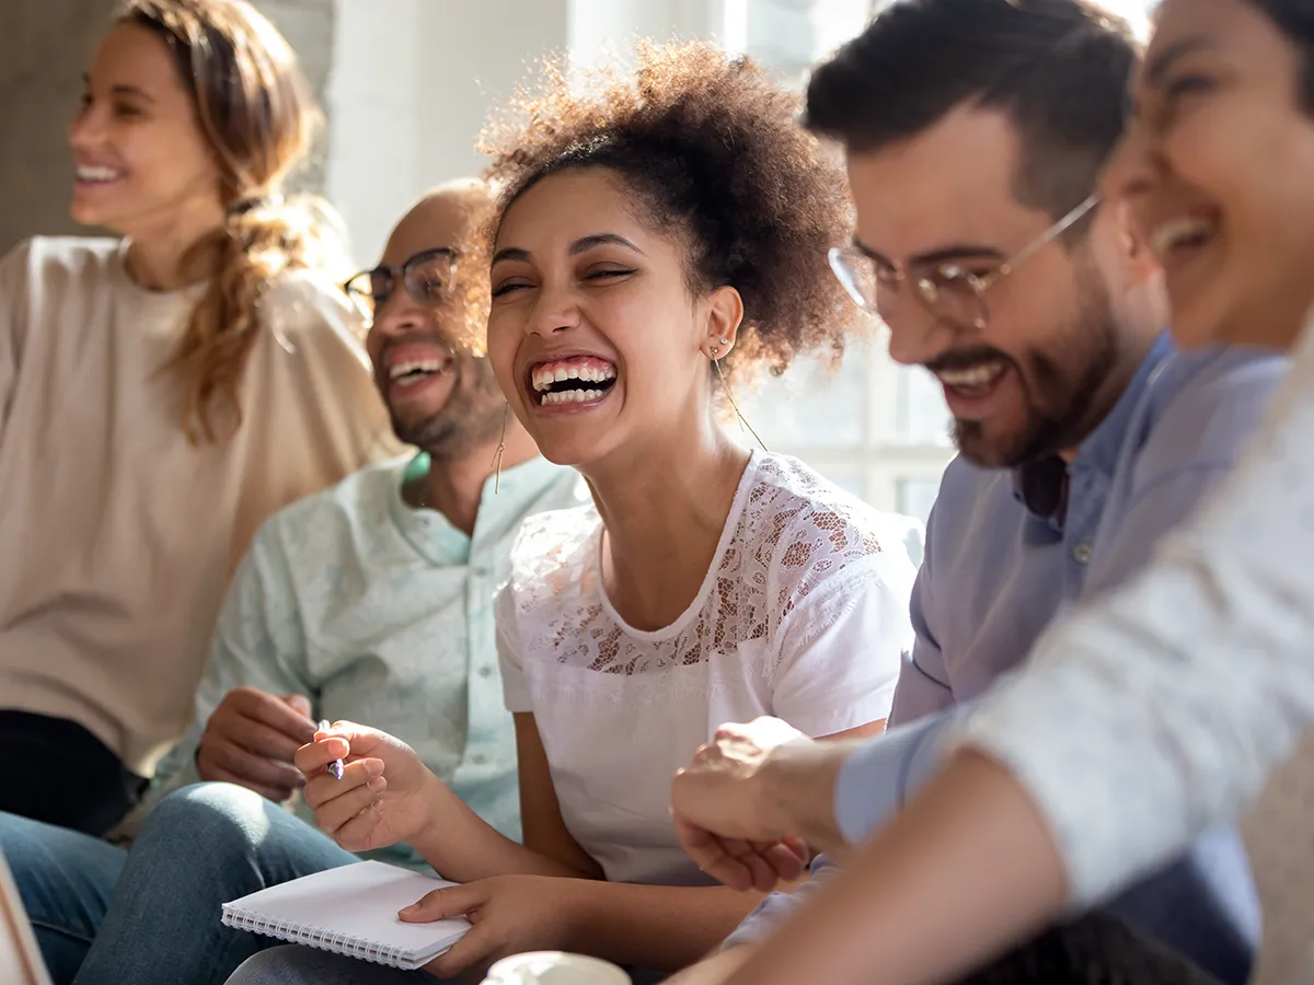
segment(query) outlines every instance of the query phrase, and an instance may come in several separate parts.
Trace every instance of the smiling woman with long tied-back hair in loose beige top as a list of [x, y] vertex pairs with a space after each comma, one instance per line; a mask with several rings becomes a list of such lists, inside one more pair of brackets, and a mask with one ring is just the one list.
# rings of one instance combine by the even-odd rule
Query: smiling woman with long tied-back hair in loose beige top
[[72, 215], [0, 261], [0, 810], [102, 834], [187, 726], [272, 511], [385, 452], [317, 110], [243, 0], [133, 0], [68, 131]]

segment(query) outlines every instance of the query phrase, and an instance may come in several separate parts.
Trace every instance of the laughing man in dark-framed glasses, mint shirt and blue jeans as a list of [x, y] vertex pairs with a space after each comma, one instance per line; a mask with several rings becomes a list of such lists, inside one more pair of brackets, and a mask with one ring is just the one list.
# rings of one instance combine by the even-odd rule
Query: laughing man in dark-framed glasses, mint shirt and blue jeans
[[[393, 431], [418, 454], [364, 469], [259, 531], [219, 616], [196, 724], [162, 766], [131, 850], [5, 829], [0, 848], [57, 985], [75, 973], [222, 982], [269, 939], [223, 927], [221, 904], [356, 860], [300, 804], [292, 756], [322, 718], [410, 742], [519, 838], [491, 604], [524, 517], [587, 492], [539, 456], [469, 349], [485, 331], [487, 261], [468, 244], [490, 213], [484, 184], [443, 186], [398, 223], [380, 265], [344, 285], [371, 320]], [[372, 858], [427, 869], [406, 846]]]

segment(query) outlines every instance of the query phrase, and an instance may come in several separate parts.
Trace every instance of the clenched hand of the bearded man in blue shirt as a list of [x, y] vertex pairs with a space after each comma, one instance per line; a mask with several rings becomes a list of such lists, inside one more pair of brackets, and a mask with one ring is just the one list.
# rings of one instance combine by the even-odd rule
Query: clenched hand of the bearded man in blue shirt
[[836, 841], [834, 776], [848, 753], [820, 749], [779, 718], [717, 729], [671, 784], [685, 851], [733, 889], [770, 892], [798, 879], [807, 842]]

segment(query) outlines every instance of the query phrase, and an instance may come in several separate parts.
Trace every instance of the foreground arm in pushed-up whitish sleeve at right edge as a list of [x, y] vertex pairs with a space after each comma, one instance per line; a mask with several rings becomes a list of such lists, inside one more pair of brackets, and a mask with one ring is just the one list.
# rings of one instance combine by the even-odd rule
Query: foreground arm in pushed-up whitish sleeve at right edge
[[1051, 628], [945, 772], [731, 981], [783, 985], [805, 967], [844, 985], [878, 961], [894, 984], [951, 977], [1254, 797], [1314, 718], [1311, 429], [1307, 332], [1209, 506], [1133, 582]]

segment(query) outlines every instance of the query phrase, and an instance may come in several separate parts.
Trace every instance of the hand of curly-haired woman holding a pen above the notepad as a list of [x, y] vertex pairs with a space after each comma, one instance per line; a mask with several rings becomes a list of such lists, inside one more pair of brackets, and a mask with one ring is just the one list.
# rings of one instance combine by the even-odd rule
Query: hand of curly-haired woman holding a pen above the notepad
[[[342, 779], [328, 772], [335, 759], [343, 762]], [[315, 822], [347, 851], [414, 842], [428, 826], [431, 791], [440, 781], [415, 750], [388, 733], [334, 722], [297, 750], [296, 764]]]

